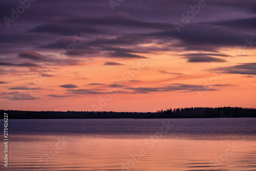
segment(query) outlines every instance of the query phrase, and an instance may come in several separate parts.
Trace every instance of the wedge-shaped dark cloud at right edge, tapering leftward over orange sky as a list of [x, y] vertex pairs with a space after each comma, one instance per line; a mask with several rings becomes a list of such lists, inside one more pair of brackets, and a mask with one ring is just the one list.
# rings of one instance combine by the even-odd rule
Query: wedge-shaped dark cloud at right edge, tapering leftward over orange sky
[[242, 63], [240, 65], [225, 67], [225, 68], [209, 69], [207, 71], [227, 73], [227, 74], [256, 75], [256, 62]]

